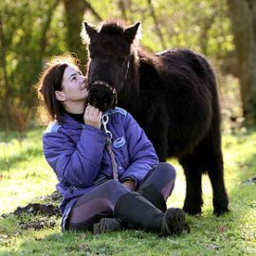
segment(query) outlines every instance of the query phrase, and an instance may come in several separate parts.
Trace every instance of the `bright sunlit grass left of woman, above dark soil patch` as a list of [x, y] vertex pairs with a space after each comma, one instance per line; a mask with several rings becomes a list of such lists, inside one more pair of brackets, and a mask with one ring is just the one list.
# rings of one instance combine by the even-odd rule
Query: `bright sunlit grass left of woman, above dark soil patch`
[[42, 133], [43, 130], [34, 130], [25, 138], [1, 140], [0, 214], [55, 190], [55, 174], [42, 152]]

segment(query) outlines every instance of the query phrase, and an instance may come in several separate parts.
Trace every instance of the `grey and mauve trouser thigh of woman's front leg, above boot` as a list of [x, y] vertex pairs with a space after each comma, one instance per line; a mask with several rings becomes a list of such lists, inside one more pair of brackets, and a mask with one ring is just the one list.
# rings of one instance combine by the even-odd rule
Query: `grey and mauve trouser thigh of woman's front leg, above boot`
[[108, 180], [91, 192], [81, 196], [69, 216], [69, 229], [93, 230], [93, 225], [101, 220], [103, 212], [113, 212], [119, 197], [129, 192], [116, 180]]

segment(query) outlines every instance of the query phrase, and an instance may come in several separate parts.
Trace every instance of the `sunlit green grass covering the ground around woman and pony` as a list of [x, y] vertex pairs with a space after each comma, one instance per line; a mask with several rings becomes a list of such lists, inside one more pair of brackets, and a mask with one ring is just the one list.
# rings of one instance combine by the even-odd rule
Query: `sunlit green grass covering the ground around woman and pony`
[[[41, 129], [30, 130], [23, 138], [0, 133], [0, 214], [55, 191], [55, 174], [42, 153], [42, 134]], [[89, 232], [62, 232], [60, 218], [53, 228], [22, 229], [21, 222], [40, 221], [43, 216], [9, 215], [0, 218], [0, 255], [256, 255], [256, 185], [245, 182], [255, 175], [256, 130], [223, 138], [230, 212], [221, 217], [212, 215], [210, 181], [204, 176], [203, 214], [188, 216], [190, 234], [160, 238], [126, 230], [93, 236]], [[172, 163], [177, 179], [168, 205], [182, 207], [184, 174], [175, 161]]]

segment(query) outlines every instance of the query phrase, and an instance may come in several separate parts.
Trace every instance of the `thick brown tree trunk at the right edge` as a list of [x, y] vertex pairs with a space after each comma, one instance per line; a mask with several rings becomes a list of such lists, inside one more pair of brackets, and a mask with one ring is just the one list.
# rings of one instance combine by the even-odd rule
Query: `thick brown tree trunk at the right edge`
[[256, 123], [256, 1], [228, 0], [246, 124]]

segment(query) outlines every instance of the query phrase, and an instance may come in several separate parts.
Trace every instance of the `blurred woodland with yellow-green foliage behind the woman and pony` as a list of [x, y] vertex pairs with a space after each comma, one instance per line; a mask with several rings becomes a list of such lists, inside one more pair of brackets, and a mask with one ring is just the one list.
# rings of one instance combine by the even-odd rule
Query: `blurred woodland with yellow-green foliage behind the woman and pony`
[[256, 123], [254, 0], [2, 0], [0, 2], [0, 126], [25, 132], [34, 124], [35, 85], [46, 61], [70, 52], [86, 68], [82, 21], [121, 18], [142, 23], [149, 51], [189, 47], [217, 74], [222, 114], [230, 126]]

